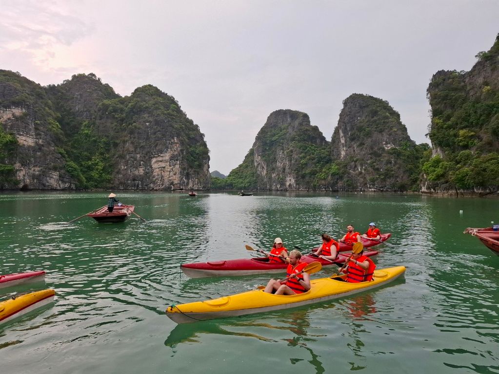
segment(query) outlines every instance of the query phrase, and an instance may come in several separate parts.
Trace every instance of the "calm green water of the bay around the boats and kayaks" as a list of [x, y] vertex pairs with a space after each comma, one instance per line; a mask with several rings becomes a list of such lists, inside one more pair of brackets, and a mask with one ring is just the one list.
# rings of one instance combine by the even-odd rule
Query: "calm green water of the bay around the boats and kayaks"
[[[499, 223], [497, 200], [126, 193], [146, 223], [64, 224], [106, 195], [0, 195], [0, 273], [47, 271], [0, 297], [56, 290], [53, 305], [0, 327], [1, 373], [499, 373], [499, 257], [463, 234]], [[405, 280], [241, 318], [176, 325], [164, 314], [268, 279], [189, 279], [181, 263], [249, 257], [245, 244], [269, 249], [277, 236], [309, 249], [370, 221], [392, 233], [378, 268], [405, 265]]]

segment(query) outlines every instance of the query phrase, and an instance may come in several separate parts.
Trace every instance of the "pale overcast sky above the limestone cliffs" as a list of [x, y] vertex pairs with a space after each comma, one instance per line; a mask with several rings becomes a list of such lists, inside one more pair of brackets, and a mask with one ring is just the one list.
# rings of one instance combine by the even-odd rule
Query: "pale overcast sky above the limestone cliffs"
[[227, 175], [273, 111], [305, 112], [331, 140], [353, 93], [429, 143], [432, 75], [470, 70], [498, 32], [499, 0], [0, 0], [0, 69], [41, 85], [94, 73], [122, 96], [152, 84]]

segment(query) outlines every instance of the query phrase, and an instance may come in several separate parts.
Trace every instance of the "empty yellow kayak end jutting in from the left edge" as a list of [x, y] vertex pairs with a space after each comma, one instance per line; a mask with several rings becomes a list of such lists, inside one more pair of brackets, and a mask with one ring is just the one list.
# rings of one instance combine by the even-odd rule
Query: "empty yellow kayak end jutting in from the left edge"
[[0, 302], [0, 324], [29, 313], [54, 300], [55, 291], [46, 289], [25, 295], [13, 296]]

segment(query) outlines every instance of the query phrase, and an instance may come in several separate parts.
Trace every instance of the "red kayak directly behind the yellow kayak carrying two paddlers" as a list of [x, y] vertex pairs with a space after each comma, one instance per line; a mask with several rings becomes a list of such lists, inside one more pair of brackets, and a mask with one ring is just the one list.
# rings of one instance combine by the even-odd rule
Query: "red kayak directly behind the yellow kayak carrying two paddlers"
[[[313, 254], [301, 256], [301, 260], [306, 263], [319, 261], [322, 266], [341, 265], [350, 256], [351, 253], [339, 253], [334, 262], [318, 258]], [[375, 250], [365, 250], [366, 256], [378, 254]], [[187, 276], [191, 278], [203, 278], [207, 276], [234, 276], [249, 275], [261, 273], [281, 273], [286, 271], [287, 263], [270, 262], [268, 257], [239, 258], [235, 260], [209, 261], [184, 263], [180, 268]]]

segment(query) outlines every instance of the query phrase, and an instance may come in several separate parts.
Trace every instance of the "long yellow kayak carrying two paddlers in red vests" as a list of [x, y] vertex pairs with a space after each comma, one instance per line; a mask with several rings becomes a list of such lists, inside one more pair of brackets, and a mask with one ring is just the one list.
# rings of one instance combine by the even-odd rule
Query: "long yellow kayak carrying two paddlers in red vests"
[[188, 323], [294, 308], [380, 287], [404, 272], [405, 266], [374, 270], [374, 280], [361, 283], [345, 282], [346, 275], [314, 279], [310, 281], [310, 290], [295, 295], [274, 295], [257, 289], [214, 300], [171, 305], [166, 314], [177, 323]]

